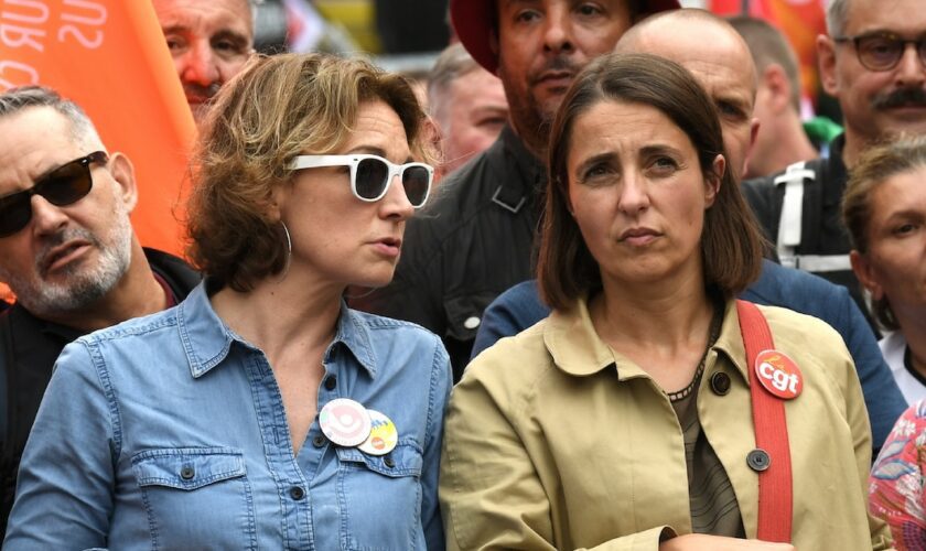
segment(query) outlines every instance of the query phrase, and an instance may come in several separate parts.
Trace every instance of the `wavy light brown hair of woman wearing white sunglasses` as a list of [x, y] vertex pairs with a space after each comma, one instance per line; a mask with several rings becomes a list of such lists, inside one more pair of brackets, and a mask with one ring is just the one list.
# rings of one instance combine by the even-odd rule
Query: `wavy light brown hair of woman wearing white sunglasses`
[[325, 154], [349, 137], [360, 104], [385, 101], [412, 155], [427, 158], [424, 114], [408, 80], [363, 60], [326, 54], [257, 56], [223, 86], [194, 156], [187, 231], [191, 260], [219, 285], [248, 291], [287, 262], [270, 215], [272, 191], [300, 154]]

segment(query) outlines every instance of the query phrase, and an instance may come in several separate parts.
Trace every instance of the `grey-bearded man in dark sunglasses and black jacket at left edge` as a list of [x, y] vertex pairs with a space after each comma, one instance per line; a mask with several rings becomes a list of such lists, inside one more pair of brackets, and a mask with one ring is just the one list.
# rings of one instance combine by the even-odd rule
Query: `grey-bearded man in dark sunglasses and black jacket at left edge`
[[129, 222], [137, 199], [131, 162], [106, 152], [77, 105], [40, 87], [0, 95], [0, 281], [17, 294], [0, 314], [4, 533], [20, 455], [64, 346], [172, 306], [200, 280], [183, 260], [142, 249]]

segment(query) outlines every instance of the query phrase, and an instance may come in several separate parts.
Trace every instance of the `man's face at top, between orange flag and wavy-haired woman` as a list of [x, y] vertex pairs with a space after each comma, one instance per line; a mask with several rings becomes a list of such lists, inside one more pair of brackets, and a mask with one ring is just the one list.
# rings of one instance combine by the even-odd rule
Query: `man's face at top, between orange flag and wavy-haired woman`
[[201, 123], [218, 88], [254, 53], [254, 14], [248, 0], [153, 0], [164, 39]]

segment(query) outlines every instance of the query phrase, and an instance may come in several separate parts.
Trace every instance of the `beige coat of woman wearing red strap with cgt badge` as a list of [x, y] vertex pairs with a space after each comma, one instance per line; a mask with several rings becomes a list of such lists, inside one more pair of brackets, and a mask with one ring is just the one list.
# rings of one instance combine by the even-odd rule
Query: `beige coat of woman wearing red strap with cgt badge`
[[[814, 317], [762, 307], [804, 376], [785, 411], [799, 551], [890, 548], [866, 514], [871, 435], [842, 338]], [[729, 391], [712, 390], [726, 374]], [[721, 376], [722, 378], [722, 376]], [[701, 425], [755, 538], [757, 474], [749, 374], [729, 301], [698, 395]], [[480, 355], [453, 390], [440, 498], [448, 549], [655, 550], [689, 533], [681, 429], [649, 376], [595, 333], [584, 301]]]

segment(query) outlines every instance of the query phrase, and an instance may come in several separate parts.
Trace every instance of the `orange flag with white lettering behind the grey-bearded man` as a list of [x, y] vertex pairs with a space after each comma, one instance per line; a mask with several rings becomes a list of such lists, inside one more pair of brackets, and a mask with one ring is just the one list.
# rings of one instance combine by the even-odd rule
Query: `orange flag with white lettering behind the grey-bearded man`
[[134, 164], [142, 245], [183, 250], [182, 195], [196, 127], [149, 0], [0, 1], [0, 90], [50, 86]]

